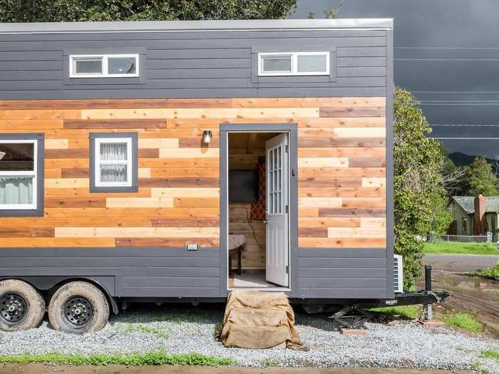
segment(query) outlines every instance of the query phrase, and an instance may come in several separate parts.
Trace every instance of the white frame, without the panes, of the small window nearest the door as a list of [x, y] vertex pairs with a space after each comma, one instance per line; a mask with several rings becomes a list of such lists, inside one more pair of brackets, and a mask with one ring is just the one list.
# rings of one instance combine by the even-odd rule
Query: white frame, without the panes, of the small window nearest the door
[[[131, 137], [98, 137], [95, 139], [95, 184], [96, 187], [131, 187], [132, 186], [132, 138]], [[125, 143], [126, 160], [101, 160], [101, 144]], [[126, 182], [101, 182], [101, 165], [126, 165]]]

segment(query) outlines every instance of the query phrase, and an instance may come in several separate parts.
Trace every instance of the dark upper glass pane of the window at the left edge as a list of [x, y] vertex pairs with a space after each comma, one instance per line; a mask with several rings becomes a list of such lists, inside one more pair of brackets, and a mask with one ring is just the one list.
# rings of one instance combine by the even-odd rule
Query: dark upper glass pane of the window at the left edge
[[0, 172], [33, 172], [34, 149], [34, 143], [0, 143]]

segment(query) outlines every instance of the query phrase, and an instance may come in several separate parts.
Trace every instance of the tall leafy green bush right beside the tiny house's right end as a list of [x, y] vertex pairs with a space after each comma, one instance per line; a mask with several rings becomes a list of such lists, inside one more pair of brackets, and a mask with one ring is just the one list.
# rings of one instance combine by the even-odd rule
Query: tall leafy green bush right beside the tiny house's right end
[[407, 289], [421, 275], [423, 237], [452, 221], [442, 174], [448, 157], [438, 140], [426, 136], [431, 128], [411, 93], [397, 89], [393, 100], [394, 244]]

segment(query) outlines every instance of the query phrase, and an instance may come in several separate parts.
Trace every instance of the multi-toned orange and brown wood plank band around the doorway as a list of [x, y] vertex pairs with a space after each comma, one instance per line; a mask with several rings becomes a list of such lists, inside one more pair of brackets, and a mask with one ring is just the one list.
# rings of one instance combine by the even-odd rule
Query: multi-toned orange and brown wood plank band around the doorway
[[[298, 123], [299, 246], [384, 246], [384, 116], [380, 97], [0, 101], [0, 133], [46, 137], [44, 217], [0, 218], [0, 246], [219, 246], [227, 122]], [[89, 192], [97, 132], [138, 133], [138, 192]]]

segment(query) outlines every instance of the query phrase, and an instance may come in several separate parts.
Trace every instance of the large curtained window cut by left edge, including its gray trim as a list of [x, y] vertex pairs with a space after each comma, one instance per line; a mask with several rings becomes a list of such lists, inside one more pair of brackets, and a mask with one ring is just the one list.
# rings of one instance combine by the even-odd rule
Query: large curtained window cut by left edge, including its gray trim
[[43, 140], [38, 135], [1, 135], [0, 137], [0, 216], [43, 215], [43, 159], [38, 148]]

